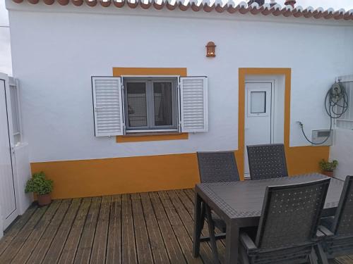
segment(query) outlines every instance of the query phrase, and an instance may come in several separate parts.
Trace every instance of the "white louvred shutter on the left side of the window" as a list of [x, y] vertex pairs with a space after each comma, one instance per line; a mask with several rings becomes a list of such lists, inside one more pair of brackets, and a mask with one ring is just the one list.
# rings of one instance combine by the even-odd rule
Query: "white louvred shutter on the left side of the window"
[[120, 77], [92, 77], [95, 137], [124, 134]]

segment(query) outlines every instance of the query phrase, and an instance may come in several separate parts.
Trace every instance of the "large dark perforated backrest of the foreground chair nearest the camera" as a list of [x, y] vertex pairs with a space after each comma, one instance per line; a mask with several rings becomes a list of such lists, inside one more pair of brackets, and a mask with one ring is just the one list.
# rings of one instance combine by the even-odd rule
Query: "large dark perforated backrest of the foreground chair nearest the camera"
[[311, 243], [318, 228], [330, 179], [267, 187], [256, 234], [259, 249]]

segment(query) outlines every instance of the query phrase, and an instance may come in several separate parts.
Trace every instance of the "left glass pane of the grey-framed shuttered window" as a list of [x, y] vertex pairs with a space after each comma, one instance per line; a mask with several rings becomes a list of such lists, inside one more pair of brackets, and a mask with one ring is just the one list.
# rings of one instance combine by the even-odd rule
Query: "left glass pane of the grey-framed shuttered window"
[[127, 83], [128, 125], [147, 126], [146, 84], [145, 82]]

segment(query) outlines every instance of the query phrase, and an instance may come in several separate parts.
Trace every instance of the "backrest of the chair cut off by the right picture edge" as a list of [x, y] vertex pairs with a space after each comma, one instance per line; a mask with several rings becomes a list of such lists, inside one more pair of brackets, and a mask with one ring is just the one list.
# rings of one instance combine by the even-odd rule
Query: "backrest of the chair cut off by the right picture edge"
[[353, 234], [353, 176], [347, 176], [338, 203], [332, 232], [338, 236]]

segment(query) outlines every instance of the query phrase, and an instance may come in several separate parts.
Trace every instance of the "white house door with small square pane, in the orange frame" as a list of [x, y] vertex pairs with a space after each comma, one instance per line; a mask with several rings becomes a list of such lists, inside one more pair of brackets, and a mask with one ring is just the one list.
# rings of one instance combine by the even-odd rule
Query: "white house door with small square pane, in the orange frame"
[[245, 91], [244, 174], [249, 177], [246, 146], [273, 143], [273, 83], [246, 82]]

